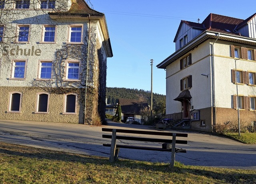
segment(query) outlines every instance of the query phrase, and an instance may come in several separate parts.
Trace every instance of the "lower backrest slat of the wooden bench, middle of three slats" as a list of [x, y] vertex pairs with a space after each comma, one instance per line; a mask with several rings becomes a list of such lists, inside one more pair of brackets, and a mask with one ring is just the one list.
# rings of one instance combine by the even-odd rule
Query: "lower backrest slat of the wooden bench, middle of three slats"
[[[102, 135], [102, 138], [112, 139], [112, 135]], [[146, 138], [146, 137], [130, 137], [130, 136], [120, 136], [117, 135], [116, 139], [130, 140], [130, 141], [144, 141], [144, 142], [154, 142], [154, 143], [172, 143], [171, 139], [156, 139], [156, 138]], [[176, 144], [187, 144], [188, 141], [176, 140]]]

